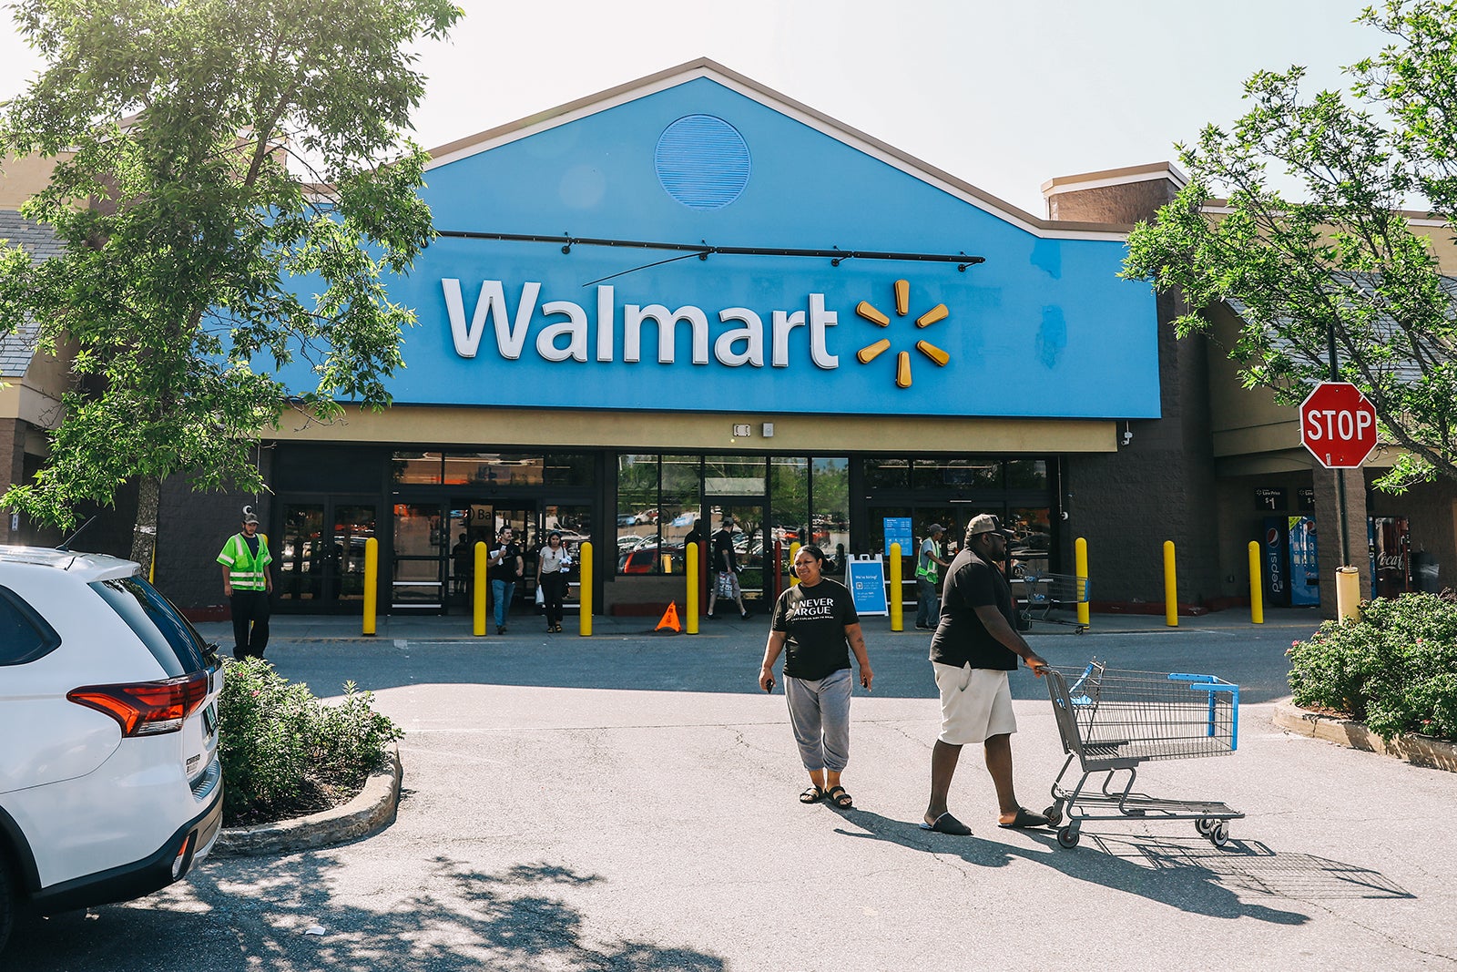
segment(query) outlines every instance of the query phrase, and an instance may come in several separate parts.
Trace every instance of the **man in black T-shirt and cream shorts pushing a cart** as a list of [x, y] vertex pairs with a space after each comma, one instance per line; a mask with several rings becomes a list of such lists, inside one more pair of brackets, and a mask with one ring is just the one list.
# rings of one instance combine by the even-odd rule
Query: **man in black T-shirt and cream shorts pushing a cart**
[[1017, 634], [1011, 589], [998, 564], [1005, 560], [1010, 530], [982, 513], [966, 525], [966, 544], [951, 561], [941, 593], [941, 619], [931, 637], [931, 667], [941, 695], [941, 734], [931, 748], [931, 799], [922, 829], [970, 834], [947, 810], [947, 794], [962, 746], [982, 743], [986, 769], [997, 787], [1000, 826], [1043, 826], [1048, 818], [1017, 803], [1013, 790], [1008, 673], [1018, 659], [1042, 678], [1048, 667]]

